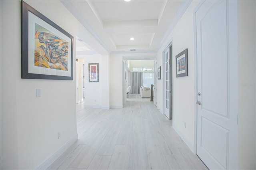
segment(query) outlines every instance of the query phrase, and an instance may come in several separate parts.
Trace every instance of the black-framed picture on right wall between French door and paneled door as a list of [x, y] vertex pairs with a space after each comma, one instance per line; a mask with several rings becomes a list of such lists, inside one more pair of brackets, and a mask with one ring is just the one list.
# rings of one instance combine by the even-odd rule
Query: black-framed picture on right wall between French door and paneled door
[[176, 55], [176, 77], [188, 76], [188, 49]]

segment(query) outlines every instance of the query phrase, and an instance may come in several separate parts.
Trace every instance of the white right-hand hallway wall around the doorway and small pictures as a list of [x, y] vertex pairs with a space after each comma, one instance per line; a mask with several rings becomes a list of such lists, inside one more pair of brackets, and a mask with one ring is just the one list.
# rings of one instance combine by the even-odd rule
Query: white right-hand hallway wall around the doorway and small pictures
[[[176, 78], [173, 64], [173, 127], [180, 134], [191, 150], [194, 146], [194, 18], [193, 11], [199, 1], [191, 2], [182, 18], [174, 27], [170, 36], [157, 53], [157, 67], [163, 70], [162, 53], [172, 40], [172, 63], [175, 56], [188, 48], [188, 76]], [[163, 77], [157, 81], [157, 107], [163, 112]], [[186, 122], [186, 128], [184, 127]]]

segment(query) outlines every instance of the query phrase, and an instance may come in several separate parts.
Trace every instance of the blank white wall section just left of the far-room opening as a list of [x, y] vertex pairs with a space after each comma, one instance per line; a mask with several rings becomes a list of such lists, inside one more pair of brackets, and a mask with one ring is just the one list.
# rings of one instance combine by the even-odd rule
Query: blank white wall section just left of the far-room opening
[[123, 103], [123, 60], [122, 54], [110, 55], [110, 107], [122, 108]]

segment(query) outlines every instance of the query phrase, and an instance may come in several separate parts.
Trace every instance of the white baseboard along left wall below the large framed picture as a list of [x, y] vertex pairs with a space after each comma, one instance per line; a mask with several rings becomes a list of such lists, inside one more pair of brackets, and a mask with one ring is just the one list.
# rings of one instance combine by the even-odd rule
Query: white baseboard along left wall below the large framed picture
[[75, 134], [66, 144], [64, 144], [59, 150], [53, 153], [51, 156], [46, 158], [40, 165], [38, 165], [36, 170], [46, 170], [60, 155], [62, 155], [74, 142], [76, 142], [78, 135]]

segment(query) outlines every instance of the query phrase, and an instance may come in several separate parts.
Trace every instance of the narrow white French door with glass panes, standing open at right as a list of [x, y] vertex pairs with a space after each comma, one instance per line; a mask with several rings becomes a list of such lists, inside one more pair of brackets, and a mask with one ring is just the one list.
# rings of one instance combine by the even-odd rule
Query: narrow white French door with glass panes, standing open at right
[[170, 119], [170, 51], [169, 48], [167, 48], [164, 51], [164, 71], [163, 71], [163, 77], [164, 77], [164, 87], [165, 87], [165, 93], [164, 93], [164, 114], [168, 119]]

